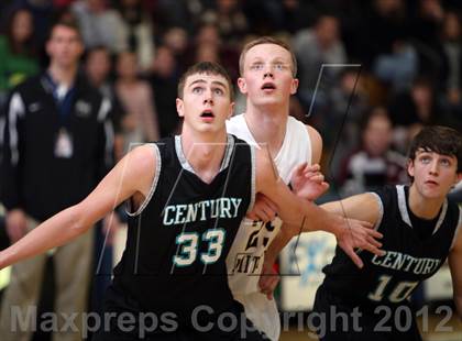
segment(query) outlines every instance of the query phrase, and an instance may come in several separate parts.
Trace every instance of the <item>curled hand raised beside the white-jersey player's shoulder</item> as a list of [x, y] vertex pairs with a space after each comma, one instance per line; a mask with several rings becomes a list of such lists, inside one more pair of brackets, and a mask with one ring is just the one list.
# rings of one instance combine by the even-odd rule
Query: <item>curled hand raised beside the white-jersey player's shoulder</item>
[[322, 196], [329, 189], [329, 184], [324, 182], [320, 169], [318, 164], [302, 163], [298, 165], [290, 177], [294, 194], [311, 201]]

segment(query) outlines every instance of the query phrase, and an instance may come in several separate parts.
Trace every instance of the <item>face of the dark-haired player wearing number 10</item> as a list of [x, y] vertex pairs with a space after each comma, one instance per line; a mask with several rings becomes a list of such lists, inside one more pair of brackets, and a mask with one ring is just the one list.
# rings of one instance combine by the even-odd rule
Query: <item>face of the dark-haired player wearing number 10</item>
[[443, 198], [462, 178], [457, 173], [455, 156], [441, 155], [435, 152], [419, 150], [416, 157], [408, 165], [410, 176], [418, 191], [426, 198]]

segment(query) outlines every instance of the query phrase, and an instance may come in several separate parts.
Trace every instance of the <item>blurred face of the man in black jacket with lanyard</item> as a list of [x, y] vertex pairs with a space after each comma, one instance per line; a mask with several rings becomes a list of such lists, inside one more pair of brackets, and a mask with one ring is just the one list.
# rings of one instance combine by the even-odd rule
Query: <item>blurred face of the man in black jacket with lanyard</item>
[[46, 43], [46, 52], [52, 63], [61, 67], [74, 67], [84, 52], [84, 45], [75, 30], [57, 25]]

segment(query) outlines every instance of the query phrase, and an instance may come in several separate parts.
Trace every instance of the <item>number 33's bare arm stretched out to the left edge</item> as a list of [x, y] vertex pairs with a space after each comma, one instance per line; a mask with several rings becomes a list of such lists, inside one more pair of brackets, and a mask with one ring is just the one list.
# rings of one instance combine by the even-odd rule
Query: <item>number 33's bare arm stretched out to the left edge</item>
[[151, 145], [129, 153], [86, 199], [47, 219], [0, 252], [0, 268], [72, 241], [131, 196], [146, 197], [155, 174], [155, 158]]

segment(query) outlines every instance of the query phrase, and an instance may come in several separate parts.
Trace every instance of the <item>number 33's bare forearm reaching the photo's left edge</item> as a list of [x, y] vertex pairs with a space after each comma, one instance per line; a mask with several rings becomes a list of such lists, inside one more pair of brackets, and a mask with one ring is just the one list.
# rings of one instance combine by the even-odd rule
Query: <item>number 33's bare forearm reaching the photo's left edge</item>
[[61, 246], [85, 233], [90, 224], [80, 220], [73, 206], [41, 223], [24, 238], [0, 252], [0, 268]]

